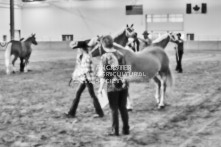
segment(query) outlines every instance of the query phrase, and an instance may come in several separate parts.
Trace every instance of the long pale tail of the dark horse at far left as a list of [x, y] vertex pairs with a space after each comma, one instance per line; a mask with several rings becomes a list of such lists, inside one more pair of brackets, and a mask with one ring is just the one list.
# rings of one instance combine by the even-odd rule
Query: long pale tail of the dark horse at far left
[[11, 50], [12, 50], [12, 42], [9, 42], [5, 49], [5, 66], [7, 74], [10, 74]]

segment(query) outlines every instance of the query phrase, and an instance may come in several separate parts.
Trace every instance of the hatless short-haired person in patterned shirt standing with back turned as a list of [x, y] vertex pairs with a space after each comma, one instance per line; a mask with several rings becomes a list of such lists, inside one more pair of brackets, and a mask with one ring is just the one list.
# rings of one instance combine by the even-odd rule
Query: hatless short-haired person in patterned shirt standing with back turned
[[113, 48], [113, 38], [110, 35], [104, 36], [102, 39], [102, 47], [106, 51], [101, 57], [100, 66], [100, 88], [102, 92], [105, 83], [107, 84], [107, 96], [112, 114], [112, 127], [108, 135], [119, 135], [119, 111], [122, 118], [122, 133], [128, 135], [129, 131], [129, 116], [127, 111], [127, 95], [128, 82], [122, 78], [122, 71], [118, 67], [123, 65], [123, 55]]

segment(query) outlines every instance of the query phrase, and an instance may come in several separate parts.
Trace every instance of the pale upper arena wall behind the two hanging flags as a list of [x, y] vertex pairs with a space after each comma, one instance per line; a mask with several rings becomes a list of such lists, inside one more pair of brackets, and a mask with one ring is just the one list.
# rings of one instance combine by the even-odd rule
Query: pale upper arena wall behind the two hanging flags
[[[4, 0], [0, 0], [4, 2]], [[207, 13], [186, 14], [186, 4], [207, 3]], [[143, 15], [125, 15], [125, 6], [142, 4]], [[1, 5], [0, 5], [1, 6]], [[61, 41], [62, 34], [74, 39], [87, 39], [99, 34], [119, 32], [127, 23], [134, 23], [140, 37], [145, 29], [145, 14], [183, 14], [182, 25], [153, 24], [154, 30], [179, 31], [195, 34], [195, 40], [221, 40], [220, 0], [93, 0], [27, 3], [16, 7], [15, 25], [22, 37], [36, 33], [40, 41]], [[9, 38], [9, 7], [0, 7], [0, 41]], [[174, 26], [173, 26], [174, 25]], [[151, 24], [149, 24], [151, 27]], [[148, 27], [147, 27], [148, 29]], [[151, 31], [151, 30], [149, 30]], [[185, 35], [184, 35], [185, 36]], [[185, 39], [185, 37], [184, 37]]]

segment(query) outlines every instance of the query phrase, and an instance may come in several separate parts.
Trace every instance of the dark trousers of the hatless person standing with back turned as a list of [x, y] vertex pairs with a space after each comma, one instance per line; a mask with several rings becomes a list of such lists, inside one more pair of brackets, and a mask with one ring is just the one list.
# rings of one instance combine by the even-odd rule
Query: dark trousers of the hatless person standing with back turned
[[121, 91], [110, 91], [107, 92], [109, 99], [109, 104], [112, 113], [112, 129], [115, 134], [119, 134], [119, 119], [118, 119], [118, 110], [120, 111], [122, 122], [123, 122], [123, 132], [129, 132], [128, 124], [128, 112], [127, 112], [127, 94], [128, 89]]

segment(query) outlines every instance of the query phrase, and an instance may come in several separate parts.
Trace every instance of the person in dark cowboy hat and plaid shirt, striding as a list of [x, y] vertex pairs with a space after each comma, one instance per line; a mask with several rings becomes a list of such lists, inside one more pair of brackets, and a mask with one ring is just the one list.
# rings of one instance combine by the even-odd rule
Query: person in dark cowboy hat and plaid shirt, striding
[[100, 106], [97, 96], [94, 93], [94, 86], [92, 84], [95, 76], [92, 68], [92, 60], [87, 51], [87, 42], [79, 41], [78, 46], [75, 48], [80, 48], [80, 52], [77, 55], [76, 61], [76, 69], [72, 74], [72, 79], [77, 79], [79, 82], [78, 90], [75, 95], [75, 99], [73, 100], [72, 106], [69, 112], [66, 114], [67, 117], [72, 118], [76, 116], [76, 110], [78, 107], [78, 103], [80, 101], [80, 97], [84, 89], [87, 87], [91, 98], [93, 99], [93, 104], [96, 110], [97, 115], [94, 117], [103, 117], [104, 113]]

